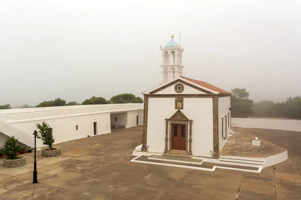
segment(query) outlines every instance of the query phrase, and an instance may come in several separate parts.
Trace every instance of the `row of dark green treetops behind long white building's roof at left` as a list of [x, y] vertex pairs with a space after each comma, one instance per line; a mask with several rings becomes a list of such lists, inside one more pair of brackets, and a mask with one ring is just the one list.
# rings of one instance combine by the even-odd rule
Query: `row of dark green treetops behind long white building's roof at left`
[[[143, 103], [143, 100], [139, 96], [135, 96], [132, 93], [122, 93], [115, 96], [112, 96], [109, 100], [106, 100], [101, 96], [92, 96], [84, 100], [82, 103], [78, 103], [76, 101], [70, 101], [67, 103], [66, 100], [62, 98], [56, 98], [54, 100], [48, 100], [40, 102], [35, 107], [50, 107], [50, 106], [64, 106], [64, 105], [92, 105], [92, 104], [109, 104], [109, 103]], [[28, 104], [18, 106], [16, 108], [27, 108], [33, 107]], [[0, 105], [0, 109], [12, 109], [10, 104]]]

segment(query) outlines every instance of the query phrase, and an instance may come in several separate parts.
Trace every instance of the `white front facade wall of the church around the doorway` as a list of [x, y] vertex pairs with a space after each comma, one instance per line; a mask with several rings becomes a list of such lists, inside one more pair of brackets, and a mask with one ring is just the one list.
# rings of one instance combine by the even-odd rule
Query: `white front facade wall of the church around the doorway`
[[[166, 128], [165, 118], [170, 118], [176, 111], [175, 98], [148, 98], [148, 151], [164, 152]], [[193, 119], [193, 155], [211, 156], [212, 154], [210, 151], [213, 151], [212, 98], [184, 98], [184, 109], [181, 109], [181, 111], [189, 119]], [[186, 145], [189, 145], [189, 143]]]

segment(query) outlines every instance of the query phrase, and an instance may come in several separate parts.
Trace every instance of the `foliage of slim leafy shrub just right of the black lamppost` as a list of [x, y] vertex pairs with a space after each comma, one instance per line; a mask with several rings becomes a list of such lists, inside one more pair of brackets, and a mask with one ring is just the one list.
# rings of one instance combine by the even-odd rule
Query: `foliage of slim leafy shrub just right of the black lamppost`
[[43, 144], [48, 145], [49, 150], [52, 150], [52, 144], [54, 143], [54, 138], [50, 132], [50, 125], [43, 121], [41, 124], [36, 124], [37, 128], [39, 129], [39, 133], [37, 134], [37, 137], [42, 139]]

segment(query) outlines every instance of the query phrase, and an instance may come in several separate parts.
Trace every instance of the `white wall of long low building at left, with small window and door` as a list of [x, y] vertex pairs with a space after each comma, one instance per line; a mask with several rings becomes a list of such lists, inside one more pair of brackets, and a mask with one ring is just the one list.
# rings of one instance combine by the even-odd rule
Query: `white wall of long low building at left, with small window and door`
[[[32, 137], [36, 123], [43, 120], [13, 123], [12, 125], [28, 133]], [[97, 134], [111, 132], [110, 113], [91, 114], [73, 117], [63, 117], [45, 120], [51, 127], [55, 143], [94, 135], [93, 122], [97, 122]], [[78, 125], [78, 130], [76, 130]], [[44, 146], [41, 139], [37, 139], [37, 146]]]

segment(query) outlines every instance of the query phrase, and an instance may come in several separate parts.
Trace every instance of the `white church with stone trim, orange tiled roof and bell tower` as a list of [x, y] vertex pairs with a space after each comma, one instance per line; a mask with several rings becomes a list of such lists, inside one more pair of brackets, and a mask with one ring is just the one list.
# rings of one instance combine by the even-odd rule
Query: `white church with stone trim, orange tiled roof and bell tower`
[[163, 82], [142, 92], [141, 153], [218, 157], [232, 131], [231, 92], [183, 76], [184, 48], [171, 37], [160, 48]]

